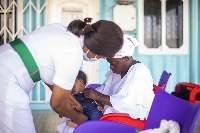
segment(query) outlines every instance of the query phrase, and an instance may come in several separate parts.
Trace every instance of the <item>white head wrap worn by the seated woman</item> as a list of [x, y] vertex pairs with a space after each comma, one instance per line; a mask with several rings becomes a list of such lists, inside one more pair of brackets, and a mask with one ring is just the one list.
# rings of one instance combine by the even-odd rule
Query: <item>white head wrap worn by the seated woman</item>
[[115, 54], [113, 58], [123, 58], [125, 56], [132, 56], [135, 50], [135, 47], [139, 45], [138, 41], [127, 35], [124, 34], [124, 43], [122, 48]]

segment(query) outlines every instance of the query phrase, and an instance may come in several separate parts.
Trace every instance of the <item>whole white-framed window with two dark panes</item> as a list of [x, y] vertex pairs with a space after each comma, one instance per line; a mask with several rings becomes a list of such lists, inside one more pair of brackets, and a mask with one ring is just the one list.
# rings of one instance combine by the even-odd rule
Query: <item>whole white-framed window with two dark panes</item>
[[188, 53], [188, 0], [139, 0], [141, 54]]

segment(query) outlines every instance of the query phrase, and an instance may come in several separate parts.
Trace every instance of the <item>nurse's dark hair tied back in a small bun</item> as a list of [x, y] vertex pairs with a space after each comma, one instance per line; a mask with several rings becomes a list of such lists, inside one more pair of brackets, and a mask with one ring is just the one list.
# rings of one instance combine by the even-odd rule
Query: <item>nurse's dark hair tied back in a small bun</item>
[[[123, 32], [114, 22], [99, 20], [91, 24], [93, 31], [84, 33], [86, 23], [81, 20], [72, 21], [68, 30], [80, 37], [84, 34], [84, 44], [94, 54], [113, 57], [123, 45]], [[87, 25], [88, 27], [88, 25]]]

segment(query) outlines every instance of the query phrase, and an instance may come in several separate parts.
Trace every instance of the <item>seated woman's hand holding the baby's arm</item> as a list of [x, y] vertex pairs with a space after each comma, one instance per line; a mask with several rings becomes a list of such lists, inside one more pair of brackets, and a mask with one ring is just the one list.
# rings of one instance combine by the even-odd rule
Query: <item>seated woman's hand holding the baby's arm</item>
[[98, 101], [100, 97], [102, 96], [102, 94], [96, 91], [95, 89], [87, 88], [83, 92], [84, 92], [85, 98], [89, 98], [96, 101]]

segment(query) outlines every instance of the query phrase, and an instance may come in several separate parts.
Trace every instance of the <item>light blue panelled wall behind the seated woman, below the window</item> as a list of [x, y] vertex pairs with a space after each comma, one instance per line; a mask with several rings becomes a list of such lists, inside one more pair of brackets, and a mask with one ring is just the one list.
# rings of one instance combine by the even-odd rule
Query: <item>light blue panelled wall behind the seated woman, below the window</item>
[[[112, 9], [115, 4], [116, 1], [113, 0], [100, 0], [100, 6], [103, 6], [100, 7], [100, 19], [112, 20]], [[136, 7], [137, 10], [137, 1], [133, 5]], [[137, 31], [138, 29], [129, 34], [137, 38]], [[194, 32], [194, 30], [192, 32]], [[142, 55], [138, 54], [136, 48], [133, 58], [141, 61], [150, 69], [154, 84], [158, 84], [163, 70], [171, 72], [172, 75], [166, 87], [166, 91], [169, 93], [174, 90], [174, 87], [178, 82], [191, 81], [189, 55]], [[194, 60], [197, 60], [196, 56]], [[101, 60], [99, 64], [99, 82], [103, 83], [103, 81], [105, 80], [104, 75], [109, 70], [109, 64], [106, 62], [106, 60]]]

